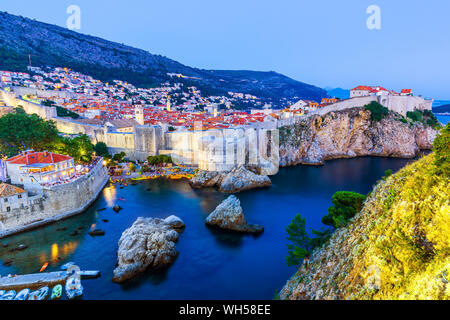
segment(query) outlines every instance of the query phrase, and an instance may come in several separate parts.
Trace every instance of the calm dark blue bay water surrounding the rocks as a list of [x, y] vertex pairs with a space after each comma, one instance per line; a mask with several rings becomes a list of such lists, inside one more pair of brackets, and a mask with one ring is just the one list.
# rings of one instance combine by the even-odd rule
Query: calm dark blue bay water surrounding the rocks
[[[185, 181], [153, 180], [136, 186], [107, 187], [84, 214], [35, 231], [0, 240], [0, 274], [47, 271], [74, 261], [84, 270], [100, 270], [101, 278], [85, 280], [84, 299], [272, 299], [295, 272], [288, 268], [285, 227], [297, 213], [308, 228], [320, 220], [339, 190], [368, 193], [386, 169], [398, 170], [409, 160], [359, 158], [329, 161], [325, 166], [281, 169], [268, 189], [238, 194], [249, 223], [265, 226], [259, 236], [209, 229], [204, 219], [225, 198], [215, 190], [194, 191]], [[119, 200], [123, 198], [125, 201]], [[115, 213], [112, 207], [124, 208]], [[107, 208], [104, 211], [97, 211]], [[167, 270], [147, 272], [132, 282], [111, 281], [122, 232], [140, 216], [177, 215], [186, 230], [177, 244], [178, 259]], [[103, 220], [107, 219], [108, 222]], [[96, 225], [106, 236], [87, 233]], [[80, 234], [71, 236], [79, 230]], [[19, 244], [29, 248], [11, 253]], [[12, 266], [2, 266], [12, 260]]]

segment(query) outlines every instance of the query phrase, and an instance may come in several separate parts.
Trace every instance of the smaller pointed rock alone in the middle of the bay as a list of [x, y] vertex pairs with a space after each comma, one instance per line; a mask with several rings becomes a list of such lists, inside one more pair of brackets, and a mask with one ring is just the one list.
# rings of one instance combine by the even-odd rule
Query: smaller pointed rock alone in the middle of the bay
[[262, 226], [247, 224], [241, 203], [233, 195], [217, 206], [216, 210], [206, 218], [206, 224], [238, 232], [261, 233], [264, 231]]

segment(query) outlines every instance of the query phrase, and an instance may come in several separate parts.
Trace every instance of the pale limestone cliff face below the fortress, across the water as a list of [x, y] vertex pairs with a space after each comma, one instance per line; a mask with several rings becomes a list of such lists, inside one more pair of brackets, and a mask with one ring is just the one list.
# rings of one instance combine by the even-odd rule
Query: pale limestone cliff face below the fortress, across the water
[[280, 165], [318, 165], [358, 156], [412, 158], [421, 149], [431, 149], [437, 131], [403, 123], [400, 117], [390, 112], [376, 122], [364, 108], [311, 115], [280, 129]]

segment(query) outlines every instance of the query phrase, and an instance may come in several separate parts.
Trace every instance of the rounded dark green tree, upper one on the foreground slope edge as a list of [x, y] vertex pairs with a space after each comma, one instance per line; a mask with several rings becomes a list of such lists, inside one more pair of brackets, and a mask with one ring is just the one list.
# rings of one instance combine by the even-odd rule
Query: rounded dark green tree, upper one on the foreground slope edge
[[328, 209], [328, 215], [322, 218], [324, 225], [338, 229], [347, 224], [347, 222], [362, 209], [366, 196], [350, 191], [336, 192], [332, 197], [334, 206]]

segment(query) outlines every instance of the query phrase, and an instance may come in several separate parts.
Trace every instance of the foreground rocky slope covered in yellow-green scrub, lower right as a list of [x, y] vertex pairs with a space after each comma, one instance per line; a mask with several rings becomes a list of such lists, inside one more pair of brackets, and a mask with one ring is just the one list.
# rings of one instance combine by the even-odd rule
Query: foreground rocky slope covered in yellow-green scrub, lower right
[[434, 154], [380, 182], [281, 299], [449, 299], [450, 185]]

